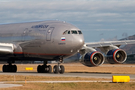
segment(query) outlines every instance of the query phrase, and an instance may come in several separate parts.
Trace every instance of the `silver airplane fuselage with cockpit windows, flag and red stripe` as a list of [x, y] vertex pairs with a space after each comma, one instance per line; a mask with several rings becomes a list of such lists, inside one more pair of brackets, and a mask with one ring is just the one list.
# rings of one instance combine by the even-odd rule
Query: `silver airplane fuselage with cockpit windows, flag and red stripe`
[[14, 57], [57, 60], [75, 54], [84, 44], [81, 30], [62, 21], [0, 25], [0, 43], [14, 44]]

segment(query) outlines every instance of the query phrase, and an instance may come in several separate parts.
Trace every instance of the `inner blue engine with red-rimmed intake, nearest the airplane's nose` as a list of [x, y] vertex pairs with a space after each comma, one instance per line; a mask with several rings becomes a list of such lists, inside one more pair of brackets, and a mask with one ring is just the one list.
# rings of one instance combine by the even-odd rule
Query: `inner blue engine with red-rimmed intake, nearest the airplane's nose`
[[100, 52], [94, 51], [84, 54], [80, 62], [86, 66], [93, 67], [103, 64], [104, 60], [104, 56]]

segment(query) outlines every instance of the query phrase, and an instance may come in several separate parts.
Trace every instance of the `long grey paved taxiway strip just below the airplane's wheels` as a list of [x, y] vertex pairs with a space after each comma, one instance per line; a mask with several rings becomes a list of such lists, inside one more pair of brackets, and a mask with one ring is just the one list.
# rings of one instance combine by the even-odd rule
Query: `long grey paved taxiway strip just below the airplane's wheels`
[[64, 73], [64, 74], [54, 74], [54, 73], [37, 73], [37, 72], [16, 72], [16, 73], [3, 73], [0, 75], [28, 75], [28, 76], [46, 76], [46, 77], [81, 77], [81, 78], [112, 78], [113, 75], [118, 76], [130, 76], [130, 79], [135, 79], [134, 74], [111, 74], [111, 73]]

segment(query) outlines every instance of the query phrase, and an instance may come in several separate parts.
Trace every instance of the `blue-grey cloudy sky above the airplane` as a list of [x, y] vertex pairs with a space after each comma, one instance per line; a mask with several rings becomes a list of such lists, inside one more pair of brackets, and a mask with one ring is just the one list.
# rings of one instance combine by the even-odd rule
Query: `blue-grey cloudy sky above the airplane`
[[60, 20], [80, 28], [86, 42], [135, 34], [135, 0], [0, 0], [0, 24]]

